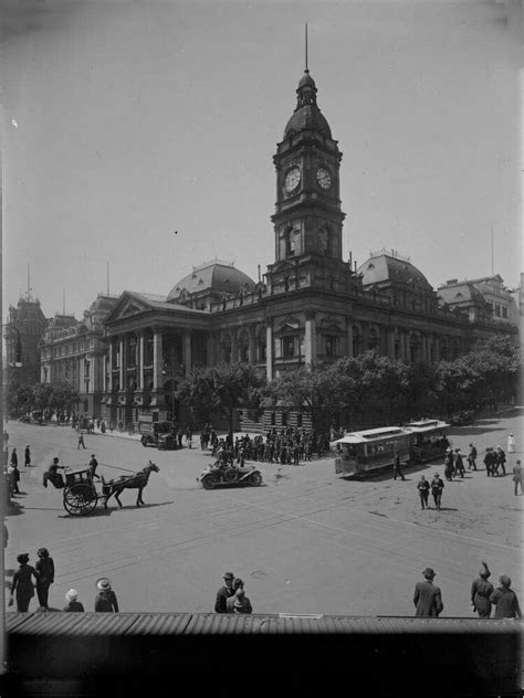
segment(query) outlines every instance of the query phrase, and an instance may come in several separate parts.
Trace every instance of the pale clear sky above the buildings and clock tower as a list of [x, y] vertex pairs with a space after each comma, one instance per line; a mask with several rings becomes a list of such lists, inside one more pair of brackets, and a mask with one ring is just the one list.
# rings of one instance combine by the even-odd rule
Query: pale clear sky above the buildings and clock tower
[[[0, 0], [3, 317], [274, 261], [272, 157], [308, 64], [344, 257], [517, 285], [517, 1]], [[175, 231], [178, 231], [175, 234]], [[492, 245], [493, 237], [493, 245]], [[493, 247], [493, 254], [492, 254]]]

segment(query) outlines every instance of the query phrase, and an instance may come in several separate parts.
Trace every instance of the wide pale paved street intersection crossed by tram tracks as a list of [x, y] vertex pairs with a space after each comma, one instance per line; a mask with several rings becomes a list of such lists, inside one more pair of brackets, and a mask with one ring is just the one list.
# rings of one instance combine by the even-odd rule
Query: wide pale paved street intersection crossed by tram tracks
[[[521, 414], [457, 429], [453, 445], [467, 451], [474, 441], [479, 453], [486, 445], [505, 447], [512, 431], [520, 448]], [[36, 549], [48, 547], [57, 570], [53, 607], [61, 609], [74, 586], [92, 610], [95, 581], [107, 575], [124, 611], [207, 612], [222, 573], [231, 570], [244, 579], [259, 613], [412, 615], [415, 582], [429, 565], [438, 573], [443, 615], [471, 616], [469, 590], [481, 560], [492, 581], [510, 574], [523, 601], [522, 497], [514, 497], [511, 476], [468, 473], [446, 484], [442, 511], [421, 511], [416, 482], [421, 472], [442, 474], [441, 466], [409, 469], [406, 482], [390, 474], [355, 482], [336, 477], [332, 459], [263, 464], [259, 488], [206, 491], [196, 476], [210, 458], [199, 450], [158, 452], [128, 438], [86, 435], [86, 451], [77, 451], [70, 427], [10, 422], [7, 430], [10, 446], [22, 454], [30, 444], [35, 463], [21, 466], [25, 494], [7, 517], [7, 577], [19, 552], [34, 561]], [[107, 478], [120, 474], [109, 465], [137, 470], [149, 457], [157, 463], [145, 507], [137, 509], [136, 491], [127, 490], [123, 509], [113, 501], [90, 517], [71, 517], [62, 493], [41, 486], [54, 455], [77, 464], [92, 452]]]

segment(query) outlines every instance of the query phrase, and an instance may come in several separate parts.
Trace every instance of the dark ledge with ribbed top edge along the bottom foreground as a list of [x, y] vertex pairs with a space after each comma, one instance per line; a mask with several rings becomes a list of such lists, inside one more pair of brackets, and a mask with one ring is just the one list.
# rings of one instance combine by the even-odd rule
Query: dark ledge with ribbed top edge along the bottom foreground
[[96, 695], [117, 677], [139, 692], [179, 671], [195, 689], [254, 671], [260, 690], [282, 671], [294, 692], [304, 674], [310, 690], [311, 673], [345, 671], [365, 696], [522, 696], [521, 621], [50, 612], [8, 613], [6, 626], [2, 696]]

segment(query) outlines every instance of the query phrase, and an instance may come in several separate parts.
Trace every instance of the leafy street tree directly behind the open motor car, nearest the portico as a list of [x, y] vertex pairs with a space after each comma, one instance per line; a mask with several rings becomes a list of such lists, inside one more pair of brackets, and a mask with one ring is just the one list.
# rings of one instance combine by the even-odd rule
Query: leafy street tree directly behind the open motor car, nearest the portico
[[220, 363], [193, 369], [180, 384], [180, 399], [198, 416], [220, 412], [232, 433], [235, 410], [259, 408], [264, 384], [265, 378], [249, 363]]

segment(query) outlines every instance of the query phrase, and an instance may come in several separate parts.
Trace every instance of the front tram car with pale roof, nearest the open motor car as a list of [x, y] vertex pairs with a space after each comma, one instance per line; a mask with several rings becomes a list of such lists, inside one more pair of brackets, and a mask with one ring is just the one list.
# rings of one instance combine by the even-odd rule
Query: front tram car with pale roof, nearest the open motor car
[[404, 426], [381, 426], [352, 432], [335, 442], [335, 473], [349, 475], [368, 473], [392, 465], [395, 454], [400, 463], [411, 456], [412, 432]]

